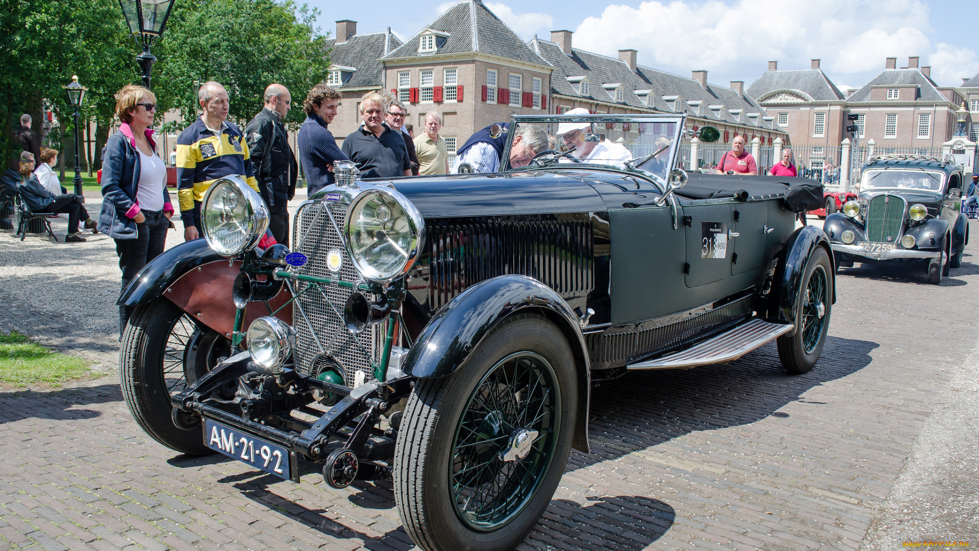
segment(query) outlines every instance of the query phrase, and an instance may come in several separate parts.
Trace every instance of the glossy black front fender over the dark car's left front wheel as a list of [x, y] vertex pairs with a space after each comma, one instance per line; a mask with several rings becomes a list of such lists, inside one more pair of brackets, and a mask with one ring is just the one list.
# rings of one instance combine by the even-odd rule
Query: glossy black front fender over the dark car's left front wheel
[[211, 250], [207, 239], [180, 243], [147, 263], [122, 291], [117, 304], [135, 306], [150, 302], [181, 275], [222, 258]]

